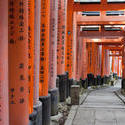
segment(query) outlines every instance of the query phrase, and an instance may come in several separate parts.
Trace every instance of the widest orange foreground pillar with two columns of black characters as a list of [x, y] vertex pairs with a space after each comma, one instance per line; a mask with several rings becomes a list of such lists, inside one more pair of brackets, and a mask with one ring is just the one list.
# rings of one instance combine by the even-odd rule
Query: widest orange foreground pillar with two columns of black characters
[[9, 0], [9, 124], [28, 125], [28, 0]]

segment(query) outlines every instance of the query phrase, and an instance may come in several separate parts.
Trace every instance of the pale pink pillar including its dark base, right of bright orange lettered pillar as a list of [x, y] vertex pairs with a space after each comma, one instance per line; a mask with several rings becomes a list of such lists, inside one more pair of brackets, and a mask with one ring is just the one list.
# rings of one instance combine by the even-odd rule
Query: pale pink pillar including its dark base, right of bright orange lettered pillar
[[58, 88], [57, 78], [57, 29], [58, 0], [50, 1], [50, 41], [49, 41], [49, 93], [51, 94], [51, 115], [57, 114]]

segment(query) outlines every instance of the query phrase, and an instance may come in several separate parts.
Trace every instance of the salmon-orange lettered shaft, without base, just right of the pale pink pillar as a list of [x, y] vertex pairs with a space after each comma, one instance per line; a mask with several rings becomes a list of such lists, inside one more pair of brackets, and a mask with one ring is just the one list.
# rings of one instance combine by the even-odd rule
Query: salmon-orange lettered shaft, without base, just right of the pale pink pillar
[[57, 74], [65, 73], [67, 0], [58, 1]]

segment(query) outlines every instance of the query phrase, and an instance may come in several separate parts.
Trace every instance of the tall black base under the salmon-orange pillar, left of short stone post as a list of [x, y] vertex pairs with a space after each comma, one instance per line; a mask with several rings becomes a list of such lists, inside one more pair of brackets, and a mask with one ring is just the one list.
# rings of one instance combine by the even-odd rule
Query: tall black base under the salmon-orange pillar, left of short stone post
[[59, 99], [60, 102], [66, 100], [66, 84], [67, 84], [67, 74], [58, 75], [59, 77]]

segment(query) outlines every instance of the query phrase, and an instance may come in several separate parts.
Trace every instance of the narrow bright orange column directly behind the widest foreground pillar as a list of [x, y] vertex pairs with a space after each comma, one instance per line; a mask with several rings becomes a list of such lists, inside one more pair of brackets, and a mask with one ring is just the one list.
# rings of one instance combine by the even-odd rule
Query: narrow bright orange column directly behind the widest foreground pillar
[[29, 113], [33, 112], [34, 85], [34, 0], [28, 1]]

